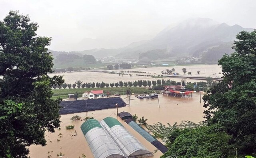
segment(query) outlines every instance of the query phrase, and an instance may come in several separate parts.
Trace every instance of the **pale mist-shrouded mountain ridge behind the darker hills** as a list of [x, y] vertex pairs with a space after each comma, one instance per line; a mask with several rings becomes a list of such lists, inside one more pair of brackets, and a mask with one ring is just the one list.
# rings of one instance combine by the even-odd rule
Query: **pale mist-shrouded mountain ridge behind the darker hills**
[[[175, 27], [167, 27], [159, 32], [155, 38], [133, 42], [126, 47], [119, 49], [104, 49], [97, 47], [97, 41], [85, 39], [82, 43], [88, 43], [91, 47], [96, 49], [89, 49], [84, 51], [71, 51], [69, 53], [84, 55], [90, 54], [97, 58], [107, 56], [124, 56], [138, 58], [138, 53], [147, 51], [158, 53], [156, 50], [161, 50], [159, 53], [166, 53], [172, 55], [202, 55], [212, 47], [225, 45], [236, 39], [236, 35], [243, 31], [252, 31], [251, 28], [242, 28], [239, 25], [229, 26], [226, 23], [218, 24], [209, 18], [193, 18], [181, 22]], [[80, 43], [80, 44], [82, 44]], [[221, 48], [222, 48], [221, 47]], [[226, 47], [225, 47], [226, 49]], [[222, 51], [220, 49], [220, 51]], [[63, 53], [63, 52], [62, 52]], [[68, 52], [66, 52], [68, 53]], [[53, 53], [58, 54], [54, 51]], [[223, 53], [224, 54], [224, 53]]]

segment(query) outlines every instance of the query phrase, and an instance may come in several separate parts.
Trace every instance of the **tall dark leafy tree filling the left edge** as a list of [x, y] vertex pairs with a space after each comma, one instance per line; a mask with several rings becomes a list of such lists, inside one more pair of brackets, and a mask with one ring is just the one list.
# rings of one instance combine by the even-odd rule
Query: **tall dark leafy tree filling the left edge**
[[26, 158], [32, 144], [46, 145], [45, 131], [60, 126], [60, 101], [51, 99], [51, 38], [37, 36], [38, 25], [10, 11], [0, 21], [0, 157]]

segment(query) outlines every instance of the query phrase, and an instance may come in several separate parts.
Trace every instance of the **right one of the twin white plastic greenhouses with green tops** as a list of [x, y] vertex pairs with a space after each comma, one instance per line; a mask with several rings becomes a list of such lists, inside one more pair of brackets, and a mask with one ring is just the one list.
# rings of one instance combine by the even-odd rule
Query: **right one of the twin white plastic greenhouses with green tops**
[[117, 119], [107, 117], [101, 124], [128, 158], [154, 156]]

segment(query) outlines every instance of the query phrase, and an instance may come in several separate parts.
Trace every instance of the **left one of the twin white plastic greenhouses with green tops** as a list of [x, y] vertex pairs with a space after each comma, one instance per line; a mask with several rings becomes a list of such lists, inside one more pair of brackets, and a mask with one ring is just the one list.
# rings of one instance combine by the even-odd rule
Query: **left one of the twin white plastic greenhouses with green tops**
[[102, 128], [100, 122], [90, 119], [81, 125], [94, 158], [125, 158], [126, 156], [111, 136]]

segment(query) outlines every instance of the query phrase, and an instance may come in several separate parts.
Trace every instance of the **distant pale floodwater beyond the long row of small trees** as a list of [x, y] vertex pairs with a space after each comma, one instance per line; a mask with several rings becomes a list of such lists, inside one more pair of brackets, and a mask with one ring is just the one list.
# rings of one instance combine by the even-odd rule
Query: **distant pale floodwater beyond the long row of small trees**
[[[136, 68], [136, 69], [126, 69], [124, 71], [144, 71], [146, 73], [141, 73], [143, 75], [162, 75], [162, 71], [166, 71], [166, 69], [174, 68], [174, 73], [180, 73], [180, 76], [189, 76], [184, 75], [182, 68], [185, 67], [187, 72], [192, 72], [192, 76], [195, 77], [222, 77], [222, 74], [219, 74], [221, 71], [221, 67], [219, 65], [191, 65], [191, 66], [174, 66], [174, 67], [148, 67], [148, 68]], [[113, 70], [115, 72], [119, 72], [119, 70]], [[197, 73], [200, 71], [200, 74]], [[128, 73], [128, 72], [127, 72]], [[215, 74], [216, 75], [213, 75]], [[64, 79], [66, 83], [74, 83], [75, 81], [83, 81], [85, 82], [105, 82], [105, 83], [116, 83], [118, 81], [137, 81], [137, 80], [156, 80], [155, 78], [148, 76], [136, 76], [139, 73], [128, 73], [129, 75], [118, 75], [118, 74], [108, 74], [108, 73], [98, 73], [98, 72], [72, 72], [72, 73], [64, 73]], [[132, 74], [132, 77], [130, 77]], [[187, 73], [186, 73], [187, 74]], [[62, 75], [61, 73], [57, 74], [49, 74], [50, 76], [54, 75]], [[178, 78], [158, 78], [158, 79], [171, 79], [177, 82], [180, 82], [181, 79]], [[196, 82], [198, 80], [194, 79], [186, 79], [188, 82]], [[202, 80], [200, 80], [202, 81]]]

